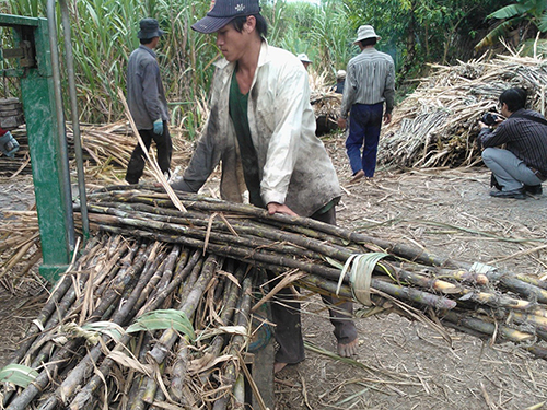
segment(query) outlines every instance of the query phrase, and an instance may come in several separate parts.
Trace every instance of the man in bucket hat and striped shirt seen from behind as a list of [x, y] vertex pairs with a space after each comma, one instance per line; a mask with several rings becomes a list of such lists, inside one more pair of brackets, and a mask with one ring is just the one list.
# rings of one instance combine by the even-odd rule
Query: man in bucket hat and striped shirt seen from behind
[[349, 60], [346, 70], [338, 127], [346, 129], [349, 113], [346, 152], [353, 176], [351, 183], [374, 176], [382, 116], [389, 124], [395, 104], [395, 65], [389, 55], [375, 49], [380, 38], [371, 25], [360, 26], [354, 44], [361, 54]]

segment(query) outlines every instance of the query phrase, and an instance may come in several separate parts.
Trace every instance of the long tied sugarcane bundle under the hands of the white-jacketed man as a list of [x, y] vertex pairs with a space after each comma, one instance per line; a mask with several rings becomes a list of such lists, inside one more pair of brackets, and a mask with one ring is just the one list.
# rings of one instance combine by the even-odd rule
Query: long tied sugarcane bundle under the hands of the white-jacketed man
[[179, 212], [156, 188], [141, 188], [91, 194], [92, 229], [203, 249], [278, 273], [299, 270], [306, 274], [294, 280], [310, 290], [365, 305], [388, 304], [411, 318], [428, 312], [469, 332], [534, 344], [543, 355], [534, 343], [547, 337], [543, 281], [196, 195], [177, 192], [186, 209]]

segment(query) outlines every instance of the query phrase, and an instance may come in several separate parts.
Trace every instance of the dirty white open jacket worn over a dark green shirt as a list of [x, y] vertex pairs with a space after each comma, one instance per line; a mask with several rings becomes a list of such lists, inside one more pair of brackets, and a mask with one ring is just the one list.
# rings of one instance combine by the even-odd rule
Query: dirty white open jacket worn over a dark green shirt
[[[246, 190], [237, 138], [229, 115], [234, 62], [217, 62], [210, 115], [190, 164], [173, 188], [197, 192], [221, 162], [221, 196], [242, 202]], [[248, 122], [258, 160], [264, 203], [284, 203], [310, 216], [340, 197], [333, 163], [315, 136], [307, 73], [291, 52], [263, 40], [249, 90]]]

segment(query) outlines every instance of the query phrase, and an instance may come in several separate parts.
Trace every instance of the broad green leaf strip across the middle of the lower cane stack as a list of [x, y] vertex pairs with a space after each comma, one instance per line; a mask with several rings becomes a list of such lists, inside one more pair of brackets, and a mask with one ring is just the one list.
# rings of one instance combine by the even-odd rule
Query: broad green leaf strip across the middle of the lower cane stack
[[128, 333], [142, 330], [165, 330], [173, 328], [190, 338], [196, 339], [194, 327], [186, 314], [176, 309], [158, 309], [143, 314], [135, 324], [127, 328]]

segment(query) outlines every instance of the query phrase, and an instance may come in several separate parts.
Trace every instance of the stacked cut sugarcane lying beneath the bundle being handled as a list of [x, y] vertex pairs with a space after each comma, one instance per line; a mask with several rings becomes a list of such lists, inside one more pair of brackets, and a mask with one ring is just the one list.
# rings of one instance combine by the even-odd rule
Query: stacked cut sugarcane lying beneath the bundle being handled
[[258, 279], [198, 249], [98, 235], [0, 372], [3, 406], [235, 408]]

